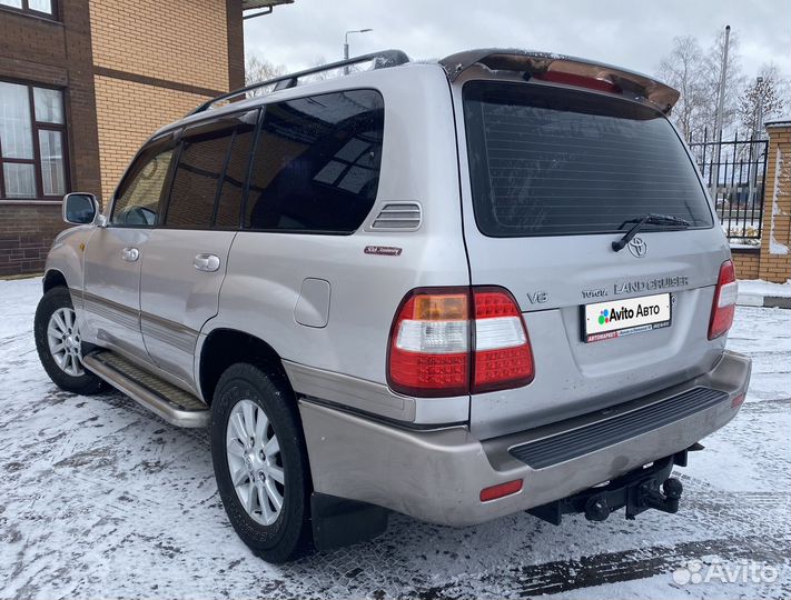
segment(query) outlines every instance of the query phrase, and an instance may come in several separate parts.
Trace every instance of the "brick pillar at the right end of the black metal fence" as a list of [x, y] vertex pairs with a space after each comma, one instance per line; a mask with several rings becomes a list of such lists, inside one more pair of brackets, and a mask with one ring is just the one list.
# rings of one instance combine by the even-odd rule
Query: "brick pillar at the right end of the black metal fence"
[[767, 123], [767, 191], [759, 277], [783, 283], [791, 279], [791, 121]]

